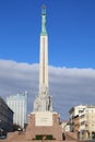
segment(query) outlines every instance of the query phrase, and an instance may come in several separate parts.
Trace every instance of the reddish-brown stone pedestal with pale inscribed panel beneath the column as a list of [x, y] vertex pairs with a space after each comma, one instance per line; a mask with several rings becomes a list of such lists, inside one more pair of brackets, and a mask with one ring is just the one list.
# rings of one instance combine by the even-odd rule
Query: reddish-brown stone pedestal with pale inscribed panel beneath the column
[[62, 140], [59, 115], [50, 111], [35, 111], [28, 116], [26, 140]]

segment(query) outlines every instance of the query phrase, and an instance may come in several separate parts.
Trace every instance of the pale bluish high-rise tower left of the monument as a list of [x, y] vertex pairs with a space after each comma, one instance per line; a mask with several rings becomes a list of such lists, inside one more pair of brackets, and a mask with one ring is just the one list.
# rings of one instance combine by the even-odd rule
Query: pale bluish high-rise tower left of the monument
[[27, 117], [27, 92], [7, 97], [8, 106], [13, 110], [13, 123], [24, 128]]

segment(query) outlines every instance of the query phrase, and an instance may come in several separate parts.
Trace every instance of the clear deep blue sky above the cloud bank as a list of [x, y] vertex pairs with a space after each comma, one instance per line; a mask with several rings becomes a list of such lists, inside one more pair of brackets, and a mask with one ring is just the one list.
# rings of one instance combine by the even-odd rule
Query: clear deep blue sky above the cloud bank
[[95, 68], [95, 0], [0, 1], [0, 59], [38, 62], [43, 3], [49, 64]]

